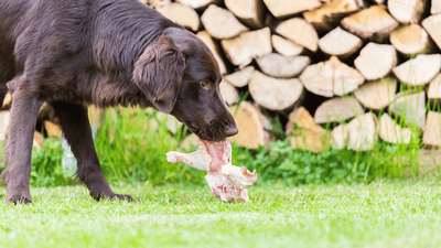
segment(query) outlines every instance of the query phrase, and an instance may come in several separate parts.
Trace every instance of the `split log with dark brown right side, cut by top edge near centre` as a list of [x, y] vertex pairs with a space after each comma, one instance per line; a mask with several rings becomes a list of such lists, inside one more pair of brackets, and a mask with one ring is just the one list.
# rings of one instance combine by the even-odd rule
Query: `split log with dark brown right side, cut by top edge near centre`
[[225, 6], [248, 26], [263, 28], [266, 8], [261, 0], [225, 0]]

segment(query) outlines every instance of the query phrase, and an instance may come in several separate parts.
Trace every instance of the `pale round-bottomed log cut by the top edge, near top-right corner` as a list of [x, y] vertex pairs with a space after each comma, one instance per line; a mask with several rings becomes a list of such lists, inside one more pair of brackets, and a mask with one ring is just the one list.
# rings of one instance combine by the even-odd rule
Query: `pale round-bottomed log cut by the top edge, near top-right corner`
[[402, 24], [419, 23], [424, 13], [428, 0], [388, 0], [390, 14]]

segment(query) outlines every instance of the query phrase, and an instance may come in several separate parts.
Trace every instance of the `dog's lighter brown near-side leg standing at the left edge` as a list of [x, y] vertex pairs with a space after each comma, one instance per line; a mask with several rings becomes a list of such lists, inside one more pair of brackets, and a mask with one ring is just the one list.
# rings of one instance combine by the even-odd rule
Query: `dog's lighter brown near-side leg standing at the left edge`
[[11, 121], [4, 152], [7, 169], [0, 175], [7, 186], [7, 203], [32, 203], [30, 173], [32, 141], [41, 101], [29, 90], [25, 76], [14, 82]]

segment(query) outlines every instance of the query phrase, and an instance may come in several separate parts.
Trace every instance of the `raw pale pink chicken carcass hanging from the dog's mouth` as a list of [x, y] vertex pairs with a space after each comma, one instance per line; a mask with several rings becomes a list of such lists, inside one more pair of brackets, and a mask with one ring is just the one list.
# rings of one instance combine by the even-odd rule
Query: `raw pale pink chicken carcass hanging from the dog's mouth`
[[211, 142], [198, 139], [200, 150], [185, 154], [168, 152], [170, 163], [184, 162], [185, 164], [207, 172], [205, 180], [213, 194], [223, 202], [248, 202], [248, 191], [257, 181], [256, 170], [251, 173], [246, 168], [232, 164], [232, 144], [227, 141]]

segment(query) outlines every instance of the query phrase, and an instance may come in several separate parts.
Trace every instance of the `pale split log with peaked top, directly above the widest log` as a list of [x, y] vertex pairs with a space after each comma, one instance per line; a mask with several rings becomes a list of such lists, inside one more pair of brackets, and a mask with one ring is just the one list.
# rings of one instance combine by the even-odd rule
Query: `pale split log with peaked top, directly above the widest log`
[[319, 41], [319, 47], [323, 53], [330, 56], [335, 55], [338, 58], [351, 56], [362, 47], [362, 44], [363, 42], [359, 37], [342, 30], [340, 26]]

